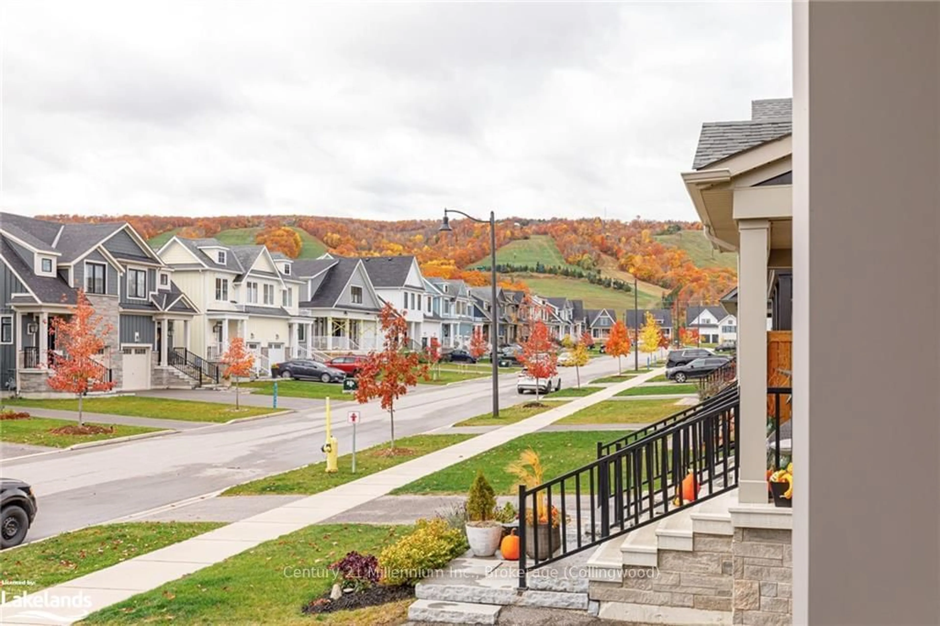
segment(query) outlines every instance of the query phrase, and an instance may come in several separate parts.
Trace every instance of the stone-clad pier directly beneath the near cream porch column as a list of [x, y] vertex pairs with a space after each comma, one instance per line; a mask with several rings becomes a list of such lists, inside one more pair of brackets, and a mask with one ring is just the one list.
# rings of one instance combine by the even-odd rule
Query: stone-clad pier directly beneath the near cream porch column
[[789, 626], [793, 615], [791, 530], [735, 528], [735, 624]]

